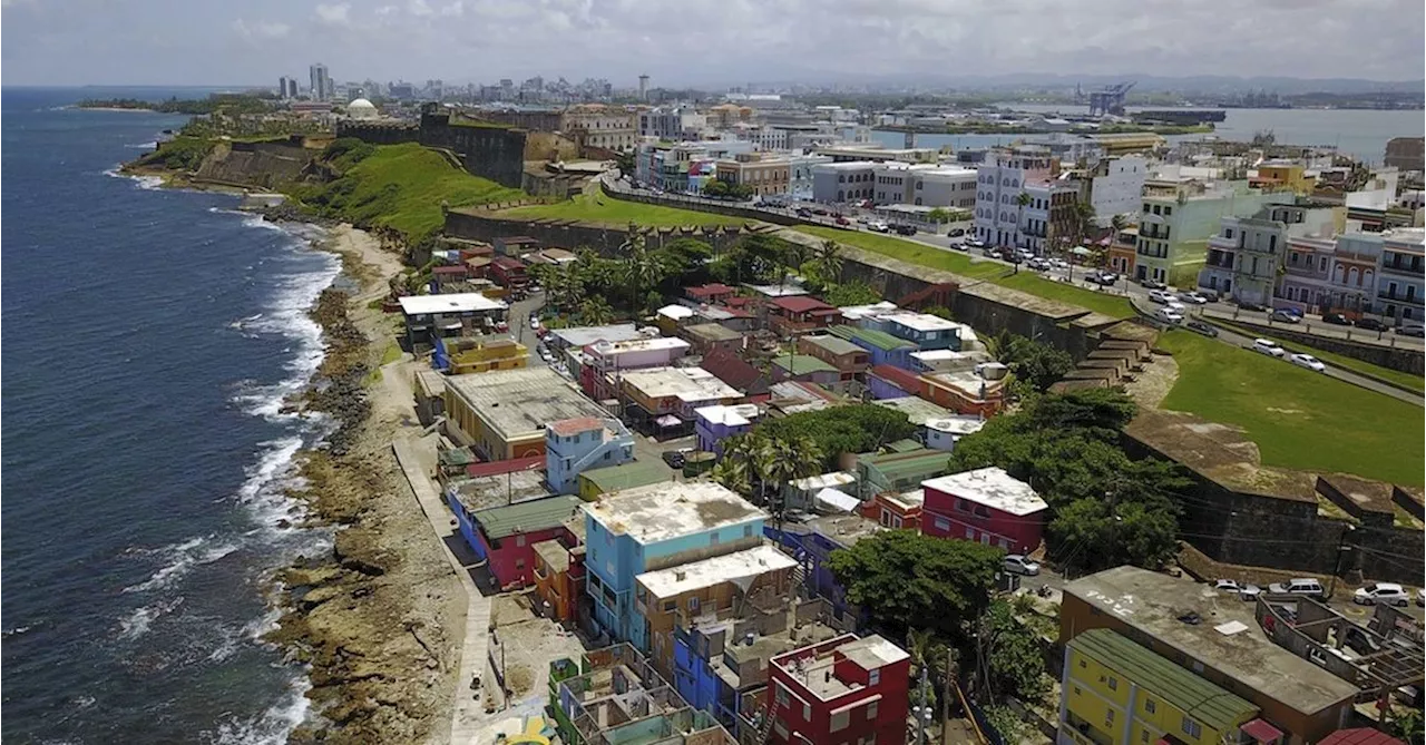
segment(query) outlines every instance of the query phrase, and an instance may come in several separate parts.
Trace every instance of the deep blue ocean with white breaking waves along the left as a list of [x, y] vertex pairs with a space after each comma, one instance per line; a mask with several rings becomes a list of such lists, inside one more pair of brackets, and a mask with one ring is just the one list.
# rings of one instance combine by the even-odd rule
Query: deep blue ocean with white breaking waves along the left
[[91, 94], [0, 90], [0, 742], [282, 742], [305, 675], [260, 637], [329, 547], [284, 490], [331, 424], [279, 402], [338, 262], [117, 175], [183, 117]]

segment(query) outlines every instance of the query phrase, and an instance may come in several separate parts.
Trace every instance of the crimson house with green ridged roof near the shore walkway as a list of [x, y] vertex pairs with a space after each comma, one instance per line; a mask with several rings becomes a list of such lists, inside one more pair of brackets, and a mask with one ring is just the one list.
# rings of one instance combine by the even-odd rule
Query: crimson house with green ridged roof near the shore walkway
[[475, 510], [469, 513], [475, 538], [471, 547], [488, 561], [499, 587], [529, 587], [535, 583], [536, 543], [578, 546], [565, 521], [579, 513], [580, 504], [579, 497], [559, 496]]

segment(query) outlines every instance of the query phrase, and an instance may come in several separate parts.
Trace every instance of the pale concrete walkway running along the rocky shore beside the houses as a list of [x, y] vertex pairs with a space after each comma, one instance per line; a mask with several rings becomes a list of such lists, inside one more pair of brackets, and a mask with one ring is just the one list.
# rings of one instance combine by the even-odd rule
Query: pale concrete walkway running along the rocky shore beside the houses
[[[431, 436], [434, 437], [434, 436]], [[426, 476], [435, 467], [434, 457], [421, 457], [421, 453], [435, 453], [435, 444], [424, 439], [398, 437], [392, 442], [392, 450], [401, 470], [411, 483], [411, 490], [421, 503], [421, 511], [431, 521], [431, 528], [441, 538], [445, 547], [446, 560], [465, 588], [468, 605], [465, 611], [465, 638], [461, 645], [461, 667], [455, 681], [455, 702], [451, 709], [451, 742], [466, 745], [478, 742], [486, 735], [492, 721], [498, 715], [485, 714], [485, 698], [492, 697], [495, 709], [505, 708], [503, 692], [496, 684], [495, 671], [491, 670], [489, 631], [491, 631], [491, 598], [481, 594], [471, 578], [471, 570], [453, 546], [463, 546], [463, 538], [452, 524], [451, 510], [441, 499], [441, 491], [431, 477]], [[431, 463], [426, 463], [426, 462]], [[471, 689], [471, 681], [481, 678], [481, 691]]]

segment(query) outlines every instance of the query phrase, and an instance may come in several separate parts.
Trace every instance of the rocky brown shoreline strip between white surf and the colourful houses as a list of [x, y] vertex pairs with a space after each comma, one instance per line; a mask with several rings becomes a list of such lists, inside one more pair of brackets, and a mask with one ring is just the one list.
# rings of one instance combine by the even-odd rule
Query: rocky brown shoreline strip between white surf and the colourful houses
[[328, 353], [308, 405], [342, 419], [325, 452], [308, 453], [305, 499], [338, 526], [331, 556], [282, 573], [291, 610], [272, 640], [311, 667], [308, 698], [327, 721], [294, 742], [445, 742], [466, 598], [425, 516], [415, 509], [391, 442], [416, 430], [409, 355], [391, 360], [399, 318], [369, 308], [401, 258], [342, 225], [327, 249], [359, 285], [327, 291], [314, 309]]

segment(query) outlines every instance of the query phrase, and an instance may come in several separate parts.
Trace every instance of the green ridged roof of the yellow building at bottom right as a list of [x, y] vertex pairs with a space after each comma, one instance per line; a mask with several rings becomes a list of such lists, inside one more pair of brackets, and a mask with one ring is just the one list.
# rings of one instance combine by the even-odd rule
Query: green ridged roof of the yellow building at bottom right
[[1070, 648], [1121, 672], [1139, 688], [1162, 698], [1194, 719], [1219, 732], [1258, 714], [1258, 707], [1186, 668], [1154, 654], [1108, 628], [1085, 631], [1070, 640]]

